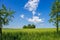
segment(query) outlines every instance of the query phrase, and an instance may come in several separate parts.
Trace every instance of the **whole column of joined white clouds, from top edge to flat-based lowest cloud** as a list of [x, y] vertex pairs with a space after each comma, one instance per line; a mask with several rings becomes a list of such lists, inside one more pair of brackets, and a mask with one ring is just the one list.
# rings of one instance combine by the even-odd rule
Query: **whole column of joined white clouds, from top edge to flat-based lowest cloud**
[[29, 22], [34, 22], [34, 23], [43, 22], [43, 20], [39, 18], [40, 13], [38, 13], [38, 16], [35, 16], [38, 3], [39, 0], [29, 0], [24, 6], [25, 9], [32, 12], [33, 14], [32, 18], [27, 19]]

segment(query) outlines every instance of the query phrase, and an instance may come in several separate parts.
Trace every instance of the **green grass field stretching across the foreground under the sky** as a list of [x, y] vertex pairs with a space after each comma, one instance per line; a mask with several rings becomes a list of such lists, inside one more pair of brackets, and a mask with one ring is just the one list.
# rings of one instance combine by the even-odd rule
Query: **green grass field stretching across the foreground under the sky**
[[60, 40], [55, 28], [3, 29], [2, 40]]

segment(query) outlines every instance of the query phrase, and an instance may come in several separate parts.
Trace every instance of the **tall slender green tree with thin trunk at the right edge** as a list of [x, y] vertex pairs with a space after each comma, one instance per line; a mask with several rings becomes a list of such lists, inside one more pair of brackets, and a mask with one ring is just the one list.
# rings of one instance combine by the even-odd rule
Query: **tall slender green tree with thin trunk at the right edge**
[[59, 22], [60, 22], [60, 1], [59, 0], [55, 0], [55, 2], [52, 5], [49, 22], [54, 23], [58, 33]]

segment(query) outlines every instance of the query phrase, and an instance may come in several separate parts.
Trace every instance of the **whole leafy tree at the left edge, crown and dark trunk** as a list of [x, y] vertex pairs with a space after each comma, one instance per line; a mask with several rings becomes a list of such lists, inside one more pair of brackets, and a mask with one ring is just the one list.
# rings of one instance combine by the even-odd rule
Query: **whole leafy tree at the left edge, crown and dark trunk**
[[9, 21], [13, 17], [14, 11], [8, 9], [2, 4], [0, 9], [0, 38], [2, 40], [2, 27], [3, 25], [8, 25]]

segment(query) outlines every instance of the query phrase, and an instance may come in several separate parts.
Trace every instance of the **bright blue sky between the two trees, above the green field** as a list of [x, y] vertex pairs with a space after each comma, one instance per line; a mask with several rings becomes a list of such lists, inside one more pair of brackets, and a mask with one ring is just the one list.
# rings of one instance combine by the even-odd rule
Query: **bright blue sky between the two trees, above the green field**
[[[36, 28], [53, 28], [53, 24], [49, 23], [48, 20], [50, 18], [51, 5], [54, 0], [39, 0], [34, 17], [32, 11], [24, 8], [28, 2], [29, 0], [0, 0], [0, 8], [1, 4], [4, 4], [7, 9], [10, 8], [15, 11], [14, 18], [4, 28], [22, 28], [23, 25], [28, 24], [35, 24]], [[35, 23], [31, 21], [36, 17], [39, 21], [36, 20], [37, 22], [34, 21]], [[31, 19], [30, 21], [28, 21], [29, 18]]]

